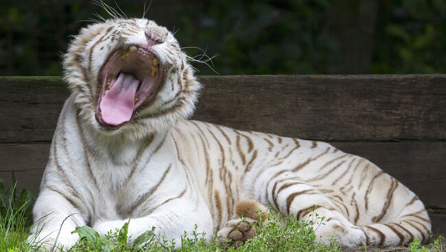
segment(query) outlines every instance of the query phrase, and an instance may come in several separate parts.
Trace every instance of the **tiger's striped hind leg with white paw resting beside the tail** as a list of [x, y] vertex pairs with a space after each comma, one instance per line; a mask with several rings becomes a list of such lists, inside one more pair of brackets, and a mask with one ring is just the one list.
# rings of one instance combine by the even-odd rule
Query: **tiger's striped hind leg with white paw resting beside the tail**
[[292, 173], [273, 177], [266, 184], [266, 190], [266, 198], [261, 199], [262, 203], [269, 203], [285, 216], [296, 216], [313, 225], [316, 237], [323, 244], [329, 244], [332, 239], [342, 247], [366, 244], [366, 235], [362, 229], [336, 210], [336, 205], [318, 188]]

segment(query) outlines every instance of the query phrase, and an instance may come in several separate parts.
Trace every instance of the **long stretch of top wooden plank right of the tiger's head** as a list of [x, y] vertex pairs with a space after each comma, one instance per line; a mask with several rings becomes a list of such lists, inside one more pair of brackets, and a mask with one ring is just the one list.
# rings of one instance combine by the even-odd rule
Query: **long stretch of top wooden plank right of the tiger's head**
[[446, 75], [219, 76], [195, 118], [316, 140], [446, 139]]

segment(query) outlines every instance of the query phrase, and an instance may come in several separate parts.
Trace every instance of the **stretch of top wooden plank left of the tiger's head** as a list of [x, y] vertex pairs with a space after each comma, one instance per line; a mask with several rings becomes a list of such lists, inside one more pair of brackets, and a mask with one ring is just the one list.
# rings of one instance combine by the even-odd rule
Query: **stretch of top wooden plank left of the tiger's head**
[[60, 77], [0, 77], [0, 142], [51, 141], [69, 92]]

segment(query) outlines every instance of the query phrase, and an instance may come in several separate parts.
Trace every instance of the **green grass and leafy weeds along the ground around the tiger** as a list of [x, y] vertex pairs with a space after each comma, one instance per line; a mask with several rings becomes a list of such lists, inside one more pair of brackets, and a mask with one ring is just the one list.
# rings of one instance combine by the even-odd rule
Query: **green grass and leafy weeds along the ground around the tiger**
[[[28, 190], [16, 191], [16, 187], [3, 188], [0, 180], [0, 251], [36, 251], [27, 242], [32, 225], [32, 202], [34, 197]], [[281, 225], [285, 222], [286, 225]], [[167, 240], [154, 235], [153, 230], [146, 231], [143, 235], [129, 242], [127, 228], [128, 223], [119, 230], [110, 231], [104, 237], [100, 237], [91, 227], [77, 227], [73, 232], [78, 233], [80, 239], [70, 251], [72, 252], [144, 252], [144, 251], [342, 251], [334, 242], [324, 246], [316, 242], [313, 225], [314, 222], [322, 223], [323, 218], [314, 216], [309, 223], [298, 221], [296, 218], [283, 218], [271, 213], [264, 224], [255, 224], [255, 238], [248, 240], [237, 249], [225, 247], [216, 241], [206, 242], [204, 234], [193, 231], [191, 234], [183, 234], [180, 241]], [[317, 225], [316, 225], [317, 226]], [[317, 227], [316, 227], [317, 228]], [[179, 242], [176, 243], [176, 242]], [[419, 241], [410, 244], [412, 252], [440, 252], [446, 251], [443, 238], [437, 238], [427, 246], [421, 246]], [[178, 245], [178, 246], [177, 246]], [[360, 249], [358, 251], [364, 251]]]

